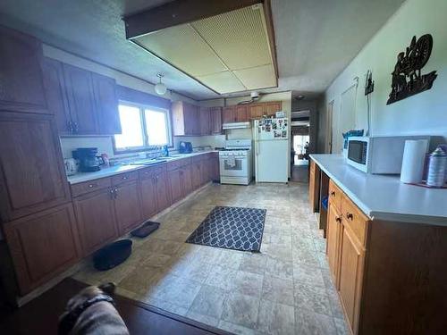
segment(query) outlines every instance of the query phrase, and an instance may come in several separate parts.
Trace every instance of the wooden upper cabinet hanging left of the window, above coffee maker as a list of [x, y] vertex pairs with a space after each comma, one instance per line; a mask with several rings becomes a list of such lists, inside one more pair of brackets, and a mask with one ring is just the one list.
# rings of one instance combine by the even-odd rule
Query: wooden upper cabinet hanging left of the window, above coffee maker
[[121, 133], [114, 79], [45, 58], [46, 100], [60, 135]]

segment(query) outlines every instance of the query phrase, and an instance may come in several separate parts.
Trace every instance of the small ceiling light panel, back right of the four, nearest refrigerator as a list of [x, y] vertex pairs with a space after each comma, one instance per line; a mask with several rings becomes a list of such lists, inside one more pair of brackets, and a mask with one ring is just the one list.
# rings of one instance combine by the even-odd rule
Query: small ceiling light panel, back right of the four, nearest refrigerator
[[272, 88], [276, 86], [274, 67], [272, 64], [234, 71], [236, 77], [246, 88]]

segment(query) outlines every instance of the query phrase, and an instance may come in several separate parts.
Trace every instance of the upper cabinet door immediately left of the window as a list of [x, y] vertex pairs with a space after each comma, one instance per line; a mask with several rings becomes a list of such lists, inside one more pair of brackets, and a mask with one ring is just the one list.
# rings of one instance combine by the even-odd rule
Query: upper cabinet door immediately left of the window
[[97, 109], [99, 133], [102, 135], [121, 134], [120, 114], [116, 81], [112, 78], [92, 73], [93, 89]]

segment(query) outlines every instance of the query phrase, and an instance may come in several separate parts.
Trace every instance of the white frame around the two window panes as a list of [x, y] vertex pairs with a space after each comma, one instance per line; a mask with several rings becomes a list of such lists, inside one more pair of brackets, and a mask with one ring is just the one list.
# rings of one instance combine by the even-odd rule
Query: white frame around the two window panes
[[[114, 146], [114, 155], [128, 154], [128, 153], [139, 153], [139, 152], [143, 152], [143, 151], [150, 151], [154, 147], [160, 147], [160, 146], [149, 146], [149, 144], [148, 144], [149, 137], [148, 137], [148, 129], [146, 127], [146, 114], [145, 114], [145, 110], [147, 110], [147, 109], [165, 113], [166, 126], [167, 126], [167, 138], [168, 138], [168, 142], [169, 142], [167, 144], [167, 146], [169, 148], [173, 148], [173, 126], [172, 126], [173, 120], [172, 120], [172, 113], [171, 113], [170, 108], [165, 109], [165, 108], [156, 107], [156, 106], [152, 106], [152, 105], [133, 103], [131, 101], [126, 101], [126, 100], [119, 100], [118, 107], [119, 107], [119, 105], [127, 105], [130, 107], [135, 107], [135, 108], [139, 109], [139, 120], [141, 121], [141, 131], [143, 134], [144, 146], [143, 147], [125, 147], [125, 148], [121, 149], [121, 148], [116, 147], [116, 142], [115, 142], [114, 136], [112, 136], [112, 142], [113, 142], [113, 146]], [[121, 122], [121, 120], [120, 120], [120, 122]]]

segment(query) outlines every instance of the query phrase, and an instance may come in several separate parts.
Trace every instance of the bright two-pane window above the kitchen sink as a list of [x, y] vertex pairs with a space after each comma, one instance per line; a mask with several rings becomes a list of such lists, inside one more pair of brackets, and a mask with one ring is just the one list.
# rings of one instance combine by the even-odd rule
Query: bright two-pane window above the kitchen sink
[[148, 150], [171, 146], [169, 112], [146, 105], [120, 103], [122, 133], [114, 135], [116, 151]]

